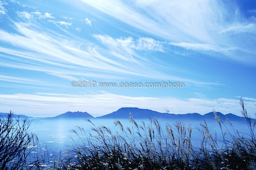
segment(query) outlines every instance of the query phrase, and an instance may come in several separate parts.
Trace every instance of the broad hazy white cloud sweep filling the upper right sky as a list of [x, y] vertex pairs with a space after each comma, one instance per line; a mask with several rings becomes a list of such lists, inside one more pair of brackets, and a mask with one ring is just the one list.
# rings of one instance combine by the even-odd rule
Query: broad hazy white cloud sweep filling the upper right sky
[[245, 64], [251, 65], [251, 60], [256, 63], [252, 57], [256, 52], [252, 46], [255, 23], [243, 16], [236, 3], [199, 0], [81, 2], [173, 45], [214, 51], [218, 55], [214, 53], [213, 57], [222, 55]]

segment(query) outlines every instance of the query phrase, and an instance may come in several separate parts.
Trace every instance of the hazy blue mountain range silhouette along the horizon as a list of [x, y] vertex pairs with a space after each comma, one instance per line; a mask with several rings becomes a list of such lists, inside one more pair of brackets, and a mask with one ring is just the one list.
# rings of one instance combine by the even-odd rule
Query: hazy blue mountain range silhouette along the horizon
[[[45, 117], [44, 119], [51, 119], [51, 120], [56, 120], [56, 119], [85, 119], [85, 118], [90, 118], [90, 119], [104, 119], [104, 118], [109, 118], [109, 119], [129, 119], [130, 113], [132, 113], [132, 116], [134, 119], [148, 119], [149, 117], [152, 118], [163, 118], [163, 119], [172, 119], [172, 120], [214, 120], [215, 119], [215, 114], [214, 112], [209, 112], [204, 115], [201, 115], [199, 113], [187, 113], [187, 114], [171, 114], [171, 113], [160, 113], [157, 111], [149, 110], [149, 109], [140, 109], [140, 108], [134, 108], [134, 107], [123, 107], [118, 109], [117, 111], [114, 111], [112, 113], [103, 115], [103, 116], [98, 116], [98, 117], [93, 117], [91, 114], [87, 112], [66, 112], [60, 115], [57, 115], [55, 117]], [[5, 115], [7, 113], [0, 113], [0, 115]], [[234, 115], [232, 113], [228, 114], [222, 114], [221, 112], [217, 112], [217, 115], [225, 121], [226, 119], [229, 119], [230, 121], [236, 121], [240, 122], [241, 120], [244, 120], [243, 117]], [[15, 117], [19, 116], [20, 118], [33, 118], [33, 117], [28, 117], [25, 115], [14, 115]], [[38, 118], [37, 118], [38, 119]], [[42, 119], [42, 118], [41, 118]]]

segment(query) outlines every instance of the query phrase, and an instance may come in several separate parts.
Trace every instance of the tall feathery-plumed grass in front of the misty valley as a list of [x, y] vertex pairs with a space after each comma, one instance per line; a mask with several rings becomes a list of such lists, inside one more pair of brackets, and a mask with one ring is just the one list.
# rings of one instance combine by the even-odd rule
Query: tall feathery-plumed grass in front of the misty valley
[[[229, 120], [225, 120], [228, 124], [223, 122], [224, 120], [221, 120], [216, 112], [215, 118], [222, 133], [222, 140], [217, 140], [210, 133], [205, 121], [196, 129], [202, 136], [201, 143], [196, 147], [191, 140], [194, 129], [191, 126], [185, 127], [180, 122], [176, 122], [173, 126], [162, 127], [157, 119], [150, 118], [148, 125], [144, 122], [138, 124], [130, 114], [131, 126], [124, 127], [119, 120], [115, 120], [114, 124], [120, 130], [113, 132], [106, 126], [96, 127], [88, 119], [92, 124], [92, 132], [88, 133], [82, 127], [72, 130], [79, 140], [74, 140], [69, 155], [66, 154], [64, 158], [60, 155], [54, 164], [47, 166], [39, 165], [46, 161], [46, 157], [41, 159], [42, 157], [34, 156], [36, 160], [33, 163], [38, 165], [28, 167], [34, 169], [255, 169], [256, 122], [248, 117], [243, 100], [240, 104], [248, 125], [248, 134], [240, 133]], [[2, 141], [3, 136], [0, 137]], [[23, 157], [19, 157], [21, 158]]]

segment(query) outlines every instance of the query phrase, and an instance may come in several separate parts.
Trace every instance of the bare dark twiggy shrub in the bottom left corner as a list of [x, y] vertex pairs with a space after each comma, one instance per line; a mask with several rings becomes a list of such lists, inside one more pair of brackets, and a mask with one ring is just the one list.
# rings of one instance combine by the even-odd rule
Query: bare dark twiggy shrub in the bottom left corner
[[[27, 118], [14, 118], [13, 113], [0, 116], [0, 167], [7, 169], [32, 169], [36, 160], [29, 162], [37, 138], [28, 133], [30, 122]], [[30, 160], [31, 161], [31, 160]]]

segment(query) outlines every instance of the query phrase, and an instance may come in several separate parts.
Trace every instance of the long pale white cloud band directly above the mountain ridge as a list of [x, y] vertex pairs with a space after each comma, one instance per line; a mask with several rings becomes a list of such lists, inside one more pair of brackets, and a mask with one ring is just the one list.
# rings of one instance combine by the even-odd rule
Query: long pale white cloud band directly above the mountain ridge
[[[93, 116], [100, 116], [116, 111], [121, 107], [139, 107], [152, 109], [159, 112], [169, 110], [170, 113], [200, 113], [205, 114], [212, 110], [224, 114], [233, 113], [241, 116], [239, 100], [233, 99], [175, 99], [132, 97], [101, 92], [97, 94], [59, 94], [59, 93], [34, 93], [34, 94], [0, 94], [1, 111], [10, 109], [17, 114], [31, 116], [56, 116], [67, 111], [87, 111]], [[253, 106], [255, 99], [245, 100], [245, 107], [254, 116]], [[26, 106], [26, 107], [25, 107]], [[100, 107], [98, 107], [100, 106]], [[45, 114], [42, 114], [45, 113]]]

